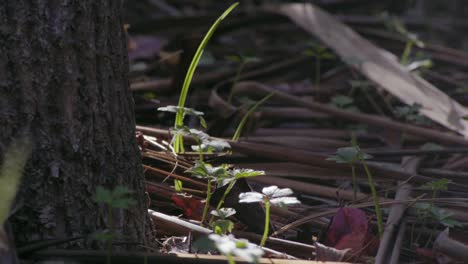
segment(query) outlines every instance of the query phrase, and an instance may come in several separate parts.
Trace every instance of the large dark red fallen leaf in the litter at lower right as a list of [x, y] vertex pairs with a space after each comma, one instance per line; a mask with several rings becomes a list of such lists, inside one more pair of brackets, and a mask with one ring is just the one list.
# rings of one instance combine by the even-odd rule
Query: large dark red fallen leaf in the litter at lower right
[[378, 240], [370, 233], [364, 211], [349, 207], [336, 212], [327, 232], [326, 244], [336, 249], [349, 248], [357, 255], [373, 255], [378, 248]]

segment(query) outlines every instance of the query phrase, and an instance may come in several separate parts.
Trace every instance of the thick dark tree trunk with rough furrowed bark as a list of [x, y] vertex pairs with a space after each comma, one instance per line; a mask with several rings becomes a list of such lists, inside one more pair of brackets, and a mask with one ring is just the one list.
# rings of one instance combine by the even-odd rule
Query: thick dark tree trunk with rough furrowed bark
[[106, 228], [98, 185], [138, 190], [138, 206], [114, 221], [126, 241], [145, 241], [121, 11], [120, 0], [0, 2], [0, 159], [19, 135], [34, 142], [13, 219], [19, 243]]

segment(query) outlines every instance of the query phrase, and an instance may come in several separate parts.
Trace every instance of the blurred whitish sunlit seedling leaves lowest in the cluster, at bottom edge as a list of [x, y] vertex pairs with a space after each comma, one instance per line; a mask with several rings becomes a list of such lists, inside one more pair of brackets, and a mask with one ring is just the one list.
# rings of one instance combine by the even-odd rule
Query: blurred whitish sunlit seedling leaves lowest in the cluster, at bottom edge
[[240, 257], [249, 263], [257, 263], [263, 255], [263, 249], [245, 239], [236, 239], [233, 235], [210, 234], [209, 240], [219, 253], [228, 258], [229, 264], [235, 264], [234, 257]]

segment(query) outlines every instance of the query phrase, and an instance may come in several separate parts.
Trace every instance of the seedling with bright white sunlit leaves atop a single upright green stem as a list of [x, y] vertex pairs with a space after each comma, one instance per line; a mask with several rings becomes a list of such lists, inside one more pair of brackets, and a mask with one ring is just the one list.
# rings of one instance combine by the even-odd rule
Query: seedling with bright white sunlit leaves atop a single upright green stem
[[289, 188], [280, 189], [278, 186], [269, 186], [262, 189], [262, 193], [246, 192], [239, 195], [239, 203], [263, 203], [265, 206], [265, 229], [263, 231], [260, 246], [263, 247], [268, 238], [270, 229], [270, 206], [286, 207], [292, 204], [300, 204], [296, 198], [289, 196], [293, 191]]

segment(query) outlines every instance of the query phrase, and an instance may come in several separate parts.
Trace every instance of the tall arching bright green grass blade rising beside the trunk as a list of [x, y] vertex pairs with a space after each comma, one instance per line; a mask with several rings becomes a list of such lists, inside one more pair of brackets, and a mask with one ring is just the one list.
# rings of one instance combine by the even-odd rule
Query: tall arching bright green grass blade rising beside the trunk
[[[190, 66], [187, 70], [187, 74], [185, 75], [184, 83], [182, 85], [182, 91], [180, 92], [180, 97], [179, 97], [179, 103], [178, 106], [180, 109], [183, 109], [185, 107], [185, 101], [187, 100], [187, 95], [190, 87], [190, 83], [192, 82], [193, 74], [195, 73], [195, 69], [198, 66], [198, 62], [201, 59], [201, 56], [203, 54], [203, 50], [205, 49], [206, 45], [208, 44], [208, 41], [211, 39], [213, 36], [216, 28], [218, 27], [219, 23], [234, 9], [236, 6], [239, 5], [239, 3], [234, 3], [232, 4], [224, 13], [214, 22], [214, 24], [211, 26], [211, 28], [208, 30], [206, 33], [205, 37], [201, 41], [200, 45], [198, 46], [197, 51], [195, 52], [195, 55], [193, 56], [192, 62], [190, 63]], [[180, 128], [183, 127], [184, 125], [184, 113], [183, 112], [177, 112], [176, 118], [175, 118], [175, 123], [174, 123], [174, 128]], [[179, 153], [181, 151], [184, 151], [183, 149], [183, 136], [182, 135], [177, 135], [174, 141], [174, 151], [175, 153]]]

